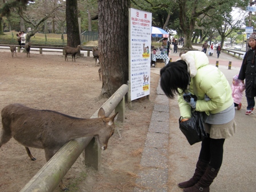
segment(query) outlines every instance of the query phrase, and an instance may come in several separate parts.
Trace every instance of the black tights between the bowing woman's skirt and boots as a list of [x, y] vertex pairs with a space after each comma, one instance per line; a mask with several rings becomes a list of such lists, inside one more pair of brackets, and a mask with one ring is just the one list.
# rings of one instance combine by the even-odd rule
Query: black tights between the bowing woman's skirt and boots
[[211, 139], [207, 134], [207, 138], [203, 139], [199, 159], [210, 162], [210, 166], [219, 169], [223, 159], [223, 145], [225, 139]]

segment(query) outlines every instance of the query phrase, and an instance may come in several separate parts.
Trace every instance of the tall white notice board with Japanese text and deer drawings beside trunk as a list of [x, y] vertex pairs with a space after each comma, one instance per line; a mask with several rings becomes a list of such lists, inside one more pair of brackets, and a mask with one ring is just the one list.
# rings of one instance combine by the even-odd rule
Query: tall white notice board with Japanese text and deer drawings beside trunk
[[152, 13], [129, 9], [130, 101], [149, 95]]

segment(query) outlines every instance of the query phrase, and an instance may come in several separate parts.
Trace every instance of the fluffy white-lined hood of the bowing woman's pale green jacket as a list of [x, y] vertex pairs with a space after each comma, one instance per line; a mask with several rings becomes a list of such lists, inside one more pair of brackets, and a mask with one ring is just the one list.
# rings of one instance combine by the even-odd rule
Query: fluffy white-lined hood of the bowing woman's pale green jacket
[[195, 77], [197, 69], [209, 65], [209, 59], [202, 51], [189, 51], [181, 55], [181, 59], [187, 63], [190, 77]]

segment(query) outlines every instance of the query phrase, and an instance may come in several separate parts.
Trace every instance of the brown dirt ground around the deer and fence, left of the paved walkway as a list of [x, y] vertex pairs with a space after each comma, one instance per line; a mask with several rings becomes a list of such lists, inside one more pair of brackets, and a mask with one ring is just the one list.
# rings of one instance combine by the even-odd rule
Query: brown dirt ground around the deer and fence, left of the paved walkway
[[[63, 55], [0, 52], [0, 109], [9, 103], [22, 103], [35, 109], [59, 111], [74, 117], [89, 118], [106, 101], [99, 98], [102, 83], [93, 57], [65, 62]], [[133, 191], [141, 152], [149, 128], [159, 75], [151, 74], [150, 100], [126, 105], [124, 123], [118, 123], [122, 138], [115, 132], [102, 153], [101, 171], [83, 166], [83, 155], [63, 181], [69, 191]], [[2, 128], [2, 125], [0, 125]], [[37, 161], [30, 161], [25, 148], [11, 139], [0, 149], [0, 191], [22, 189], [45, 165], [44, 151], [31, 149]], [[56, 189], [56, 191], [61, 191]]]

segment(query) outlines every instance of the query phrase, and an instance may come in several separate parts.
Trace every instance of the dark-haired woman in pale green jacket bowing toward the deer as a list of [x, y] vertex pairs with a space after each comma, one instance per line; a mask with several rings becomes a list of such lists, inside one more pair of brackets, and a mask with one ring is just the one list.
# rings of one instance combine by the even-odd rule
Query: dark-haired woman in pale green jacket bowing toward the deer
[[[167, 97], [178, 95], [182, 121], [191, 117], [191, 107], [204, 113], [207, 138], [203, 139], [193, 177], [178, 186], [185, 192], [209, 191], [222, 164], [223, 145], [235, 133], [234, 103], [231, 87], [225, 75], [214, 66], [202, 51], [189, 51], [177, 62], [169, 62], [160, 71], [161, 88]], [[183, 94], [197, 93], [185, 101]], [[186, 94], [185, 94], [186, 95]]]

